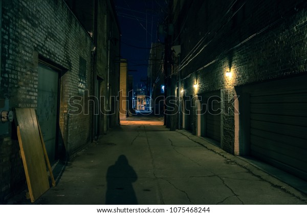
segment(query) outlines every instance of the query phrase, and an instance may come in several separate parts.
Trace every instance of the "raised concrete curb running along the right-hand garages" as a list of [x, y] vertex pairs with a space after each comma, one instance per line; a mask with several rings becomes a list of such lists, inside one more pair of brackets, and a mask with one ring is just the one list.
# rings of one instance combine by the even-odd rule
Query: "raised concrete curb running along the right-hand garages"
[[307, 196], [304, 195], [302, 192], [300, 192], [299, 190], [290, 186], [289, 184], [280, 181], [279, 179], [277, 179], [274, 176], [266, 173], [264, 170], [261, 170], [260, 168], [258, 168], [255, 165], [247, 162], [246, 160], [243, 160], [243, 159], [241, 159], [237, 156], [229, 154], [229, 153], [225, 152], [223, 149], [221, 149], [221, 148], [213, 145], [212, 143], [208, 142], [207, 140], [203, 139], [202, 137], [192, 135], [191, 133], [189, 133], [185, 130], [176, 130], [176, 132], [186, 136], [188, 139], [192, 140], [193, 142], [204, 146], [205, 148], [207, 148], [211, 152], [218, 154], [218, 155], [224, 157], [225, 159], [227, 159], [231, 162], [234, 162], [235, 164], [245, 168], [246, 170], [248, 170], [251, 174], [253, 174], [257, 178], [259, 178], [260, 180], [266, 181], [266, 182], [270, 183], [272, 186], [277, 187], [277, 188], [279, 188], [279, 189], [281, 189], [281, 190], [283, 190], [287, 193], [290, 193], [292, 196], [295, 196], [299, 200], [307, 203]]

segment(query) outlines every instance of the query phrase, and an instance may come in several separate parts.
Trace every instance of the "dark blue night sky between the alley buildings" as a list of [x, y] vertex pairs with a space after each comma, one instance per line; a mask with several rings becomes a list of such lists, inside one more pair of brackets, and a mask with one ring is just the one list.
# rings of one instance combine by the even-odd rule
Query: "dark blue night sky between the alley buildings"
[[158, 25], [167, 11], [166, 0], [114, 0], [121, 31], [121, 58], [128, 61], [134, 85], [147, 78], [151, 42], [163, 42]]

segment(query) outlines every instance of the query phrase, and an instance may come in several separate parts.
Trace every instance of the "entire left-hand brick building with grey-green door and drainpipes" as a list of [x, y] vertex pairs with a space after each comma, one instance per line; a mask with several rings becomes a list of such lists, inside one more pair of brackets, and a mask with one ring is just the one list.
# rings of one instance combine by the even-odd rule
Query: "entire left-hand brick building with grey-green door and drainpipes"
[[[93, 97], [98, 82], [104, 84], [103, 94], [111, 83], [109, 95], [119, 87], [114, 8], [110, 1], [93, 1], [86, 8], [91, 13], [82, 18], [76, 12], [79, 3], [5, 0], [0, 7], [0, 109], [36, 110], [52, 164], [68, 159], [98, 134], [97, 122], [104, 116], [95, 114], [100, 105]], [[105, 127], [118, 122], [109, 121]], [[0, 126], [0, 201], [4, 201], [25, 189], [26, 179], [15, 121]]]

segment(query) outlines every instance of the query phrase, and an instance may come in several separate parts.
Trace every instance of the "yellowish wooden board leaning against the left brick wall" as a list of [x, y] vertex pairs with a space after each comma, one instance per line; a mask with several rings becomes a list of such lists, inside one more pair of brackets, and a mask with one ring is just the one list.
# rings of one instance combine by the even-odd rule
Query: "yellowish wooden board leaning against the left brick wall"
[[45, 158], [34, 109], [16, 109], [18, 141], [31, 202], [49, 189]]

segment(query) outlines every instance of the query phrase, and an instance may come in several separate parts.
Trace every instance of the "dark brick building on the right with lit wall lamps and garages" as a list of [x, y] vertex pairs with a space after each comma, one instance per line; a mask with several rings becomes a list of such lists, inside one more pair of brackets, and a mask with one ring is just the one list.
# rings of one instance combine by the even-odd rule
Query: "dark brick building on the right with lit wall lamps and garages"
[[169, 12], [179, 128], [307, 179], [305, 2], [175, 0]]

